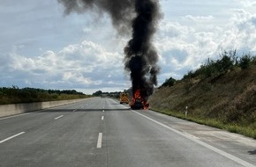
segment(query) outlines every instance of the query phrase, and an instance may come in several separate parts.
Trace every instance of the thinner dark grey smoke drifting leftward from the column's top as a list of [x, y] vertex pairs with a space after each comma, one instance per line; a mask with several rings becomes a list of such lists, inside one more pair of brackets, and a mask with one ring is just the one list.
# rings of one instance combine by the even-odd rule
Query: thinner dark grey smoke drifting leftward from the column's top
[[135, 0], [57, 0], [57, 2], [64, 5], [65, 14], [72, 12], [81, 14], [87, 11], [98, 14], [107, 12], [118, 33], [131, 31]]

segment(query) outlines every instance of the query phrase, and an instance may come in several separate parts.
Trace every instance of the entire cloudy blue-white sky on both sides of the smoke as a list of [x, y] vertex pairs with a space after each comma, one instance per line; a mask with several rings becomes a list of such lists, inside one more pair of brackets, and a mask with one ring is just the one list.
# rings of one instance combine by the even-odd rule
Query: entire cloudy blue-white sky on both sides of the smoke
[[[158, 85], [181, 79], [222, 50], [256, 52], [254, 0], [160, 0], [154, 34]], [[124, 91], [124, 47], [106, 13], [64, 14], [56, 0], [0, 0], [0, 87]]]

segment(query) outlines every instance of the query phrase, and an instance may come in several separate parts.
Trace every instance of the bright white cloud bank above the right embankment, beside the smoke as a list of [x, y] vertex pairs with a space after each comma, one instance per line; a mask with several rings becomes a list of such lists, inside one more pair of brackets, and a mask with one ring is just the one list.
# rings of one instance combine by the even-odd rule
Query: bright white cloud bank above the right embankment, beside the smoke
[[183, 23], [164, 20], [155, 38], [162, 76], [182, 76], [186, 69], [199, 68], [209, 57], [219, 58], [222, 49], [256, 52], [256, 15], [243, 9], [230, 11], [222, 25], [215, 25], [216, 18], [211, 15], [186, 15]]

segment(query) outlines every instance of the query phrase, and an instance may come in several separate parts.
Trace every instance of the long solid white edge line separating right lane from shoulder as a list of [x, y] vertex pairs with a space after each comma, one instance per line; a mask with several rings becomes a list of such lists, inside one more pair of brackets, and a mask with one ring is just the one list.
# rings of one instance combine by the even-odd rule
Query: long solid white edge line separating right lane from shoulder
[[246, 162], [246, 161], [244, 161], [244, 160], [238, 158], [237, 156], [230, 155], [229, 153], [227, 153], [227, 152], [225, 152], [225, 151], [222, 151], [221, 149], [217, 149], [217, 148], [215, 148], [215, 147], [213, 147], [213, 146], [207, 144], [206, 142], [202, 142], [202, 141], [200, 141], [200, 140], [198, 140], [198, 139], [192, 137], [192, 135], [184, 134], [184, 133], [182, 133], [182, 132], [180, 132], [180, 131], [177, 131], [176, 129], [174, 129], [174, 128], [172, 128], [172, 127], [169, 127], [169, 126], [167, 126], [167, 125], [164, 125], [164, 124], [162, 124], [161, 122], [159, 122], [159, 121], [157, 121], [157, 120], [154, 120], [154, 119], [151, 119], [151, 118], [149, 118], [149, 117], [147, 117], [147, 116], [145, 116], [145, 115], [143, 115], [143, 114], [141, 114], [141, 113], [135, 112], [135, 111], [133, 111], [133, 110], [131, 110], [131, 111], [132, 111], [133, 113], [139, 114], [140, 116], [146, 118], [147, 120], [153, 121], [154, 123], [156, 123], [156, 124], [158, 124], [158, 125], [160, 125], [160, 126], [162, 126], [162, 127], [166, 127], [166, 128], [168, 128], [169, 130], [171, 130], [171, 131], [173, 131], [173, 132], [175, 132], [175, 133], [177, 133], [177, 134], [180, 134], [180, 135], [184, 136], [185, 138], [190, 139], [190, 140], [193, 141], [193, 142], [196, 142], [196, 143], [200, 144], [201, 146], [204, 146], [204, 147], [207, 148], [207, 149], [211, 149], [211, 150], [215, 151], [216, 153], [218, 153], [218, 154], [220, 154], [220, 155], [222, 155], [222, 156], [226, 156], [226, 157], [229, 158], [230, 160], [235, 161], [235, 162], [237, 162], [237, 163], [239, 163], [239, 164], [242, 164], [243, 166], [246, 166], [246, 167], [255, 167], [255, 165], [253, 165], [252, 163], [248, 163], [248, 162]]

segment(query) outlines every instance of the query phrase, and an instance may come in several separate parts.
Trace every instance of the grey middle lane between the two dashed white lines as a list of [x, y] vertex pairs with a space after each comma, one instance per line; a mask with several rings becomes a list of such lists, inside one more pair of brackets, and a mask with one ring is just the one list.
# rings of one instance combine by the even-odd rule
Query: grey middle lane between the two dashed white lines
[[70, 112], [62, 108], [65, 116], [53, 120], [56, 113], [59, 115], [59, 110], [52, 109], [45, 113], [54, 115], [50, 117], [40, 114], [38, 120], [43, 119], [41, 121], [45, 124], [27, 129], [19, 139], [2, 143], [0, 166], [102, 166], [106, 156], [102, 150], [96, 149], [98, 133], [103, 125], [99, 119], [102, 110], [80, 109], [72, 113], [70, 108], [67, 109]]

